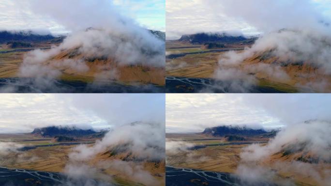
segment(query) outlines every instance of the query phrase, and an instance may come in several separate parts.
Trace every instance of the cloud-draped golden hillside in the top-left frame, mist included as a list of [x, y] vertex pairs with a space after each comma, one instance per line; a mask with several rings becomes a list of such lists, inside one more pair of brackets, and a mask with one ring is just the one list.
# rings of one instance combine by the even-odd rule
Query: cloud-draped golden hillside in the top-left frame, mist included
[[38, 61], [38, 67], [56, 71], [52, 78], [78, 80], [96, 86], [111, 83], [163, 86], [165, 72], [162, 59], [165, 53], [162, 49], [164, 41], [160, 37], [164, 32], [150, 32], [142, 31], [141, 35], [136, 35], [130, 31], [114, 33], [89, 28], [66, 37], [59, 46], [50, 50], [30, 52], [20, 71], [24, 72], [22, 76], [25, 78], [35, 77], [30, 66], [35, 65], [43, 53], [45, 58]]

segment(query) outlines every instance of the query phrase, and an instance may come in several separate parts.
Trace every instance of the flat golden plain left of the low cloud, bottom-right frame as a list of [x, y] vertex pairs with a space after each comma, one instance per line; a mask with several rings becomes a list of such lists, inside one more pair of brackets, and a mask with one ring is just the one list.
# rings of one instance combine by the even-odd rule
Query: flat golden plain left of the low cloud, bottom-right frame
[[[202, 134], [167, 134], [167, 140], [184, 140], [194, 145], [228, 143], [224, 138]], [[206, 148], [167, 154], [166, 164], [174, 167], [234, 173], [240, 160], [241, 148], [247, 145], [207, 146]]]

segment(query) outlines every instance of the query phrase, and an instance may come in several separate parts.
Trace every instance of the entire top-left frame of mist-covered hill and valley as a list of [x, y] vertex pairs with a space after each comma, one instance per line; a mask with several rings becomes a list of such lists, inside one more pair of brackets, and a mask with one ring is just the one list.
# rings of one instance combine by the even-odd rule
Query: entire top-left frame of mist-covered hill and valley
[[[43, 17], [42, 23], [44, 19], [50, 23], [42, 24], [45, 28], [21, 26], [14, 31], [9, 23], [3, 24], [8, 28], [1, 30], [13, 35], [1, 43], [2, 61], [11, 63], [2, 64], [1, 92], [163, 92], [165, 34], [131, 18], [130, 6], [122, 11], [123, 7], [110, 0], [24, 0], [4, 2], [3, 6], [29, 12], [27, 19]], [[70, 32], [60, 37], [50, 34], [47, 29], [52, 24]], [[13, 46], [22, 49], [10, 49]]]

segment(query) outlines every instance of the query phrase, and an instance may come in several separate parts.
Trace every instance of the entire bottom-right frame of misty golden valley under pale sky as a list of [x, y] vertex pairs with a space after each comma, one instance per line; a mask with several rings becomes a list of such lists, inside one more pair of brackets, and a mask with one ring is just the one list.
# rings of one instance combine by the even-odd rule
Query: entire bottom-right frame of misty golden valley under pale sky
[[167, 182], [328, 185], [328, 102], [328, 94], [167, 95]]

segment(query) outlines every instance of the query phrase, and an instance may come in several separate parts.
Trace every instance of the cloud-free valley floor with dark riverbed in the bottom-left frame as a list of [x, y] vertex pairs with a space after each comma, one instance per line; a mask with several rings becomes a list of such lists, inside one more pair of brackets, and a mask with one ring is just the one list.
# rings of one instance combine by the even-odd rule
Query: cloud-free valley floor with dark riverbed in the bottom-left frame
[[[25, 183], [28, 186], [34, 186], [33, 184], [38, 182], [45, 182], [45, 184], [50, 185], [63, 184], [66, 182], [65, 167], [69, 163], [69, 154], [72, 152], [72, 149], [78, 143], [92, 145], [95, 140], [98, 139], [81, 138], [75, 142], [56, 142], [52, 138], [36, 137], [30, 134], [0, 134], [0, 142], [12, 142], [22, 146], [22, 148], [18, 148], [18, 151], [0, 154], [0, 168], [4, 169], [4, 171], [0, 171], [0, 178], [8, 174], [12, 180], [11, 183], [17, 183], [18, 185], [22, 184], [20, 178], [24, 178], [23, 182], [24, 180], [28, 181]], [[106, 158], [108, 158], [108, 155], [96, 157], [87, 163], [90, 163], [91, 166], [96, 165], [96, 163], [106, 160]], [[97, 175], [96, 179], [116, 183], [117, 186], [143, 186], [116, 169], [100, 169], [100, 172], [103, 175]], [[32, 175], [35, 173], [36, 175]], [[54, 175], [47, 176], [52, 173], [62, 176], [58, 176], [56, 179], [53, 179]], [[45, 177], [39, 179], [38, 176], [42, 174], [45, 174]], [[9, 178], [8, 176], [6, 177]], [[162, 175], [156, 178], [160, 182], [163, 180]], [[0, 179], [0, 184], [5, 181]]]

